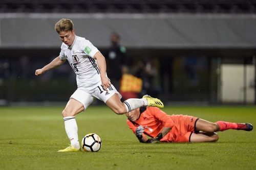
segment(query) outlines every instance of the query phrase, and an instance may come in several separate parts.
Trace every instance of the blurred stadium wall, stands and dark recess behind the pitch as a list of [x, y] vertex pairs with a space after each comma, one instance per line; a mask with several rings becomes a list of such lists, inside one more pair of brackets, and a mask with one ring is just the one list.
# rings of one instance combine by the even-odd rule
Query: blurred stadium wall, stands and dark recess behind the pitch
[[130, 67], [155, 68], [149, 94], [166, 105], [256, 104], [254, 0], [1, 0], [0, 105], [68, 101], [76, 88], [68, 63], [34, 76], [59, 54], [60, 18], [102, 54], [117, 32]]

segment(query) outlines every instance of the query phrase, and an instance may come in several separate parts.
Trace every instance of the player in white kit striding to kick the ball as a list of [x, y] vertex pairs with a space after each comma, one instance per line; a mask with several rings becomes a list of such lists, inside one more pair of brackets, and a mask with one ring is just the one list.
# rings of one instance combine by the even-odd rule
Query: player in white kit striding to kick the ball
[[125, 114], [141, 106], [155, 106], [163, 108], [163, 103], [149, 95], [142, 99], [128, 99], [123, 103], [121, 95], [111, 84], [106, 75], [106, 62], [104, 56], [87, 39], [76, 36], [74, 25], [70, 19], [60, 19], [55, 24], [61, 45], [60, 54], [49, 64], [35, 70], [39, 76], [52, 68], [69, 61], [76, 74], [77, 90], [70, 96], [62, 116], [65, 130], [70, 139], [70, 146], [58, 152], [74, 152], [80, 150], [75, 115], [85, 110], [94, 98], [103, 101], [116, 114]]

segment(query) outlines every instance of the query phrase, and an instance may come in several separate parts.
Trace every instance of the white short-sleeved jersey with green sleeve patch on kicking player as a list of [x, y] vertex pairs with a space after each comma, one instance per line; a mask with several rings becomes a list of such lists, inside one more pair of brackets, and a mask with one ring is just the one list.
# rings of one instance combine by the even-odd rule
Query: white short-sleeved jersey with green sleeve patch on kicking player
[[93, 58], [99, 50], [87, 39], [75, 36], [69, 47], [61, 45], [59, 58], [67, 59], [76, 74], [77, 87], [94, 88], [101, 81], [97, 61]]

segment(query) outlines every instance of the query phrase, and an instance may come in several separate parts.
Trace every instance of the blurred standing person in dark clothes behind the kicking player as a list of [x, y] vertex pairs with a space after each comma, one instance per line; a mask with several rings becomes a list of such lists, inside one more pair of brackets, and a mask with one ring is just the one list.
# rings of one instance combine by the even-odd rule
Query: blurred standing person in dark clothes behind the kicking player
[[117, 90], [120, 88], [122, 74], [127, 72], [126, 48], [119, 44], [119, 40], [120, 36], [117, 33], [111, 34], [111, 46], [105, 55], [108, 77]]

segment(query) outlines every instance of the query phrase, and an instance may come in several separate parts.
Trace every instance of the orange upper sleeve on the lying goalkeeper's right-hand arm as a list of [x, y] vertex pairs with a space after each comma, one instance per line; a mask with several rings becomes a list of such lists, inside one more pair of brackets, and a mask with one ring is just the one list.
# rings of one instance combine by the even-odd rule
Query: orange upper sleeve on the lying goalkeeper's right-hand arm
[[173, 119], [170, 115], [166, 114], [164, 111], [157, 107], [150, 107], [151, 114], [163, 123], [164, 127], [172, 128], [174, 126]]

